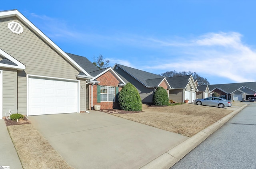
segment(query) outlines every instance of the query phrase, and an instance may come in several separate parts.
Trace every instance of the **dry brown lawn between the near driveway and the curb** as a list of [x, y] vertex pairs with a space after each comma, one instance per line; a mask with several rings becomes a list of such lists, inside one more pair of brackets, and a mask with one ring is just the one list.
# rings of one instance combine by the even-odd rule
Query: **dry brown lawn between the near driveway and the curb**
[[[243, 106], [243, 104], [238, 105]], [[191, 137], [233, 110], [196, 104], [151, 107], [143, 104], [139, 113], [114, 114], [135, 122]]]

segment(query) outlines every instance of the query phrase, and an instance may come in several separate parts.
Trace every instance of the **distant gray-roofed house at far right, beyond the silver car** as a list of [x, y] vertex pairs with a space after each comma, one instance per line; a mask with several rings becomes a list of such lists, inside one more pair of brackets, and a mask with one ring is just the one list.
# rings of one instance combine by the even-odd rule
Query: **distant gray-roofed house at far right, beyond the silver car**
[[208, 85], [211, 92], [227, 100], [249, 100], [256, 93], [256, 82]]

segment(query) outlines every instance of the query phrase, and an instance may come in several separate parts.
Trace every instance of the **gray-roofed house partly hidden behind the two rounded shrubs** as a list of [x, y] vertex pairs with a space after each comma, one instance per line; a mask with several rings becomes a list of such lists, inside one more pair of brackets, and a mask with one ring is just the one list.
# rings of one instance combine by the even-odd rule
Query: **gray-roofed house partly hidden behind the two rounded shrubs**
[[115, 64], [113, 70], [125, 83], [132, 83], [137, 88], [143, 103], [153, 102], [154, 92], [159, 86], [165, 88], [167, 92], [170, 89], [170, 85], [163, 76], [119, 64]]

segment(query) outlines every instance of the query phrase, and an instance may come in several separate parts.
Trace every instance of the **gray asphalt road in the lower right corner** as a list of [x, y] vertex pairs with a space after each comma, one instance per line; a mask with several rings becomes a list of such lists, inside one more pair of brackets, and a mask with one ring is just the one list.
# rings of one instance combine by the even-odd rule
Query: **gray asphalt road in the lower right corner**
[[256, 169], [256, 102], [250, 103], [171, 169]]

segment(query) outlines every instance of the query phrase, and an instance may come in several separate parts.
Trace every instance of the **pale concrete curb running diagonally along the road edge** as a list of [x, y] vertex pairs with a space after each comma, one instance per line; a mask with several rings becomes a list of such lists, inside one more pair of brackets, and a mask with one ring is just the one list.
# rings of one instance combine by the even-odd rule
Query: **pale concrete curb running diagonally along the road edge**
[[170, 149], [169, 151], [166, 151], [166, 153], [150, 161], [146, 165], [142, 166], [140, 169], [170, 169], [170, 167], [180, 161], [185, 155], [187, 155], [190, 151], [192, 151], [195, 147], [202, 143], [206, 138], [208, 138], [212, 133], [218, 130], [222, 125], [224, 125], [228, 120], [238, 114], [238, 112], [240, 112], [246, 106], [248, 106], [248, 104], [245, 104], [244, 106], [231, 112], [224, 118], [205, 128], [204, 130], [201, 130], [188, 140], [185, 140]]

